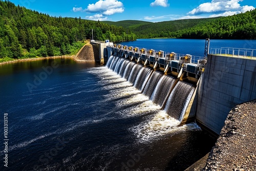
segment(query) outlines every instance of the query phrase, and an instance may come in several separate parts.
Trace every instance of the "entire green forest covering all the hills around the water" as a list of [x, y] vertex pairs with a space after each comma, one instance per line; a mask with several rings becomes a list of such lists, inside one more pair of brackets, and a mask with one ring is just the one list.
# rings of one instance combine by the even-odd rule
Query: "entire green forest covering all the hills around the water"
[[86, 40], [112, 42], [136, 38], [256, 39], [256, 10], [216, 18], [181, 19], [167, 22], [96, 22], [53, 17], [9, 1], [0, 1], [0, 62], [76, 54]]

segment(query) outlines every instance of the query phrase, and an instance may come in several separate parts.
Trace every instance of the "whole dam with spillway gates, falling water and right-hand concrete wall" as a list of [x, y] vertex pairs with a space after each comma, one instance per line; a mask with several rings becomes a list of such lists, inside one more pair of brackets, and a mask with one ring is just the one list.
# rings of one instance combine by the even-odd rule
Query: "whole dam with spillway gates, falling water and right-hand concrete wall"
[[195, 121], [218, 136], [232, 108], [256, 99], [255, 52], [209, 49], [209, 39], [204, 57], [115, 44], [104, 61], [181, 125]]

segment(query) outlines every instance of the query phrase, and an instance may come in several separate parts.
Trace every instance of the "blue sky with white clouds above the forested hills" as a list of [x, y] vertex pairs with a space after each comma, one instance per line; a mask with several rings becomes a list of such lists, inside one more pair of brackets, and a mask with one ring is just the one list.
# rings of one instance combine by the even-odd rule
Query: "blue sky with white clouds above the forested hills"
[[166, 20], [228, 16], [256, 8], [255, 0], [11, 0], [51, 16], [90, 20]]

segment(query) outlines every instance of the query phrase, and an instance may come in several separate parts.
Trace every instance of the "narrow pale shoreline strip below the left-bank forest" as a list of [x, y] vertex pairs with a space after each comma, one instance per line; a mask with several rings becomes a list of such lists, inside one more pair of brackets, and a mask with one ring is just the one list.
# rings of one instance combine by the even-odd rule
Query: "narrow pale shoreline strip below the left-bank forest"
[[75, 55], [65, 55], [65, 56], [48, 56], [48, 57], [15, 59], [15, 60], [10, 60], [10, 61], [0, 62], [0, 66], [1, 65], [6, 65], [8, 63], [23, 62], [23, 61], [33, 61], [33, 60], [43, 60], [43, 59], [52, 59], [52, 58], [72, 58], [72, 59], [74, 59], [77, 62], [88, 62], [86, 60], [76, 59]]

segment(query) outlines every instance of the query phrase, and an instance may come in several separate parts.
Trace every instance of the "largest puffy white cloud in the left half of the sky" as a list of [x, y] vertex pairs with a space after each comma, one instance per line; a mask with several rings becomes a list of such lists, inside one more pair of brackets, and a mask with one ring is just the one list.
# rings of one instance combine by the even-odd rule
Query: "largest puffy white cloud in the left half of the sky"
[[124, 8], [123, 3], [117, 0], [99, 0], [95, 4], [89, 4], [85, 11], [113, 15], [123, 12]]

